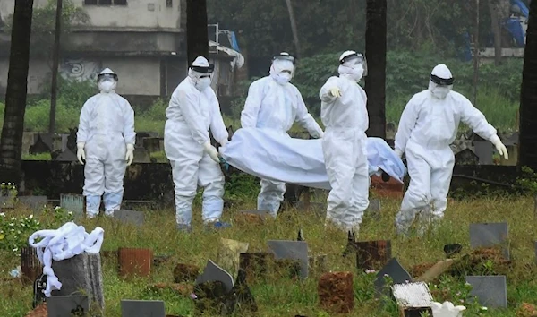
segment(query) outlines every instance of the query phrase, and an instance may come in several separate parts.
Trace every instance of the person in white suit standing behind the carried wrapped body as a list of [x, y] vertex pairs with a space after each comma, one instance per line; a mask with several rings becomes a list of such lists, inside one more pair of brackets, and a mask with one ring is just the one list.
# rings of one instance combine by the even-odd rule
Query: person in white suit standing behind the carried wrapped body
[[[294, 122], [301, 124], [314, 138], [323, 131], [304, 104], [300, 91], [289, 81], [294, 76], [294, 56], [280, 53], [272, 59], [270, 74], [253, 81], [241, 113], [243, 128], [271, 129], [286, 134]], [[268, 211], [277, 217], [286, 193], [286, 183], [261, 179], [258, 210]]]

